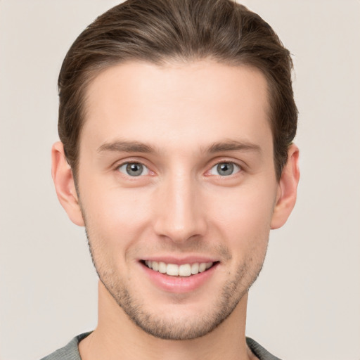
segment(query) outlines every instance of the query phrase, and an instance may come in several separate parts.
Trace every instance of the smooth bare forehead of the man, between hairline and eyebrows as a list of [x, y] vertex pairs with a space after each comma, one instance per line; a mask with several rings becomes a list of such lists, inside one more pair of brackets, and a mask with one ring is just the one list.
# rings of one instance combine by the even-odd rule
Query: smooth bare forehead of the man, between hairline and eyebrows
[[210, 60], [130, 62], [101, 72], [86, 91], [81, 147], [117, 137], [164, 146], [222, 138], [271, 143], [266, 79], [259, 70]]

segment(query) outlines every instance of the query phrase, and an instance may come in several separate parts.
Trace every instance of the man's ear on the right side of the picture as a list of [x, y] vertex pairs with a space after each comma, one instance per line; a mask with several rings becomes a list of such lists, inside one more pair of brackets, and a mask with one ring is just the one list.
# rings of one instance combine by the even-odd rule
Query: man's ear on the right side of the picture
[[278, 183], [278, 193], [271, 219], [271, 229], [278, 229], [283, 226], [290, 216], [296, 203], [299, 179], [299, 149], [295, 144], [292, 144], [288, 150], [288, 161], [283, 168], [281, 179]]

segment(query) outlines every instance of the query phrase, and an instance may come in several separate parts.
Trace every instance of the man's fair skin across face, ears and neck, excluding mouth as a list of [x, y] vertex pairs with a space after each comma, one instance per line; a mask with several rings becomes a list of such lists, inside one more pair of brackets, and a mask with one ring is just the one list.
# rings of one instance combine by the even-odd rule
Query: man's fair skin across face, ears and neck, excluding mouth
[[[266, 79], [210, 60], [132, 62], [101, 72], [86, 95], [78, 192], [62, 144], [52, 153], [58, 198], [86, 226], [101, 280], [82, 359], [255, 358], [248, 289], [299, 180], [292, 145], [276, 181]], [[127, 173], [131, 162], [143, 165], [140, 176]], [[221, 163], [233, 172], [219, 173]], [[157, 257], [217, 266], [195, 289], [168, 291], [141, 263]]]

